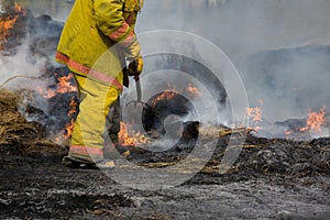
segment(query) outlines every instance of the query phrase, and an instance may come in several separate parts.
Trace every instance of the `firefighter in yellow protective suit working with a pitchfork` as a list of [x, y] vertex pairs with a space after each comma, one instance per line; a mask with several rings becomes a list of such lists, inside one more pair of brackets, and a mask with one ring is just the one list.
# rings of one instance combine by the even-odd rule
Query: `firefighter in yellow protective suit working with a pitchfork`
[[[119, 119], [111, 116], [119, 117], [119, 96], [123, 85], [128, 86], [127, 76], [136, 78], [143, 68], [134, 33], [142, 6], [143, 0], [75, 1], [55, 56], [73, 72], [79, 95], [79, 113], [64, 161], [84, 167], [113, 167], [113, 162], [105, 158], [103, 148], [109, 145], [105, 133], [119, 131]], [[127, 63], [130, 69], [125, 69]]]

